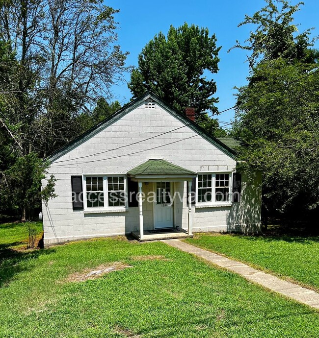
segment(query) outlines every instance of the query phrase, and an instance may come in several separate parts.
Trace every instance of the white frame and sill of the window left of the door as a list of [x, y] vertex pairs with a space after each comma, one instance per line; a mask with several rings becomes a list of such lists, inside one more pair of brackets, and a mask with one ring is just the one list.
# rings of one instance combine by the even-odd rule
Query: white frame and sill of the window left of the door
[[[104, 193], [104, 207], [88, 207], [86, 200], [86, 178], [87, 177], [103, 177], [103, 193]], [[125, 197], [124, 206], [109, 206], [108, 205], [108, 189], [107, 189], [107, 177], [123, 177], [124, 179], [124, 193], [127, 196], [128, 192], [128, 181], [127, 176], [124, 174], [83, 174], [83, 206], [84, 214], [98, 214], [98, 213], [108, 213], [108, 212], [122, 212], [128, 210], [128, 200]]]

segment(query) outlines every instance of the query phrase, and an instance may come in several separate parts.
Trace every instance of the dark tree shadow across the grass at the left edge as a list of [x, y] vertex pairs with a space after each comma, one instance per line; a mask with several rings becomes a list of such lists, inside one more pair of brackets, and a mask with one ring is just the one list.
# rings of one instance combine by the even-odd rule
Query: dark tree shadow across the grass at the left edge
[[12, 248], [21, 243], [0, 244], [0, 288], [6, 286], [16, 274], [31, 270], [33, 265], [27, 264], [30, 261], [55, 252], [54, 249], [15, 250]]

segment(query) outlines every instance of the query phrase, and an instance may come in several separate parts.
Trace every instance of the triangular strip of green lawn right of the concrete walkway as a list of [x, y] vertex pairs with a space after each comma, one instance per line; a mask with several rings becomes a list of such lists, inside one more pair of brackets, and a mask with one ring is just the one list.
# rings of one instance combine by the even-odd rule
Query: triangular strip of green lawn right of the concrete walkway
[[319, 237], [198, 234], [186, 241], [319, 290]]

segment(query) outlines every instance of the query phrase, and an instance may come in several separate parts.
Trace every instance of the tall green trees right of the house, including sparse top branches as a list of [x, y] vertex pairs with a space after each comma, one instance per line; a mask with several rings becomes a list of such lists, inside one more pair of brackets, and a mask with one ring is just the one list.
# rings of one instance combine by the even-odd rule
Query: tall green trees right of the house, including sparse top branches
[[[267, 0], [263, 20], [255, 13], [259, 24], [251, 33], [253, 55], [264, 58], [251, 69], [249, 84], [239, 88], [236, 122], [232, 133], [246, 143], [241, 150], [242, 170], [264, 173], [264, 202], [270, 210], [280, 212], [316, 209], [319, 205], [319, 69], [316, 50], [307, 39], [299, 45], [295, 39], [292, 14], [297, 6], [280, 1], [282, 9]], [[285, 11], [285, 12], [283, 12]], [[277, 13], [277, 16], [275, 15]], [[281, 34], [271, 35], [277, 27], [278, 13], [283, 26]], [[264, 19], [267, 19], [265, 27]], [[266, 19], [265, 19], [266, 20]], [[265, 45], [260, 48], [261, 32]], [[264, 34], [263, 33], [263, 34]], [[268, 36], [270, 35], [270, 36]], [[307, 35], [302, 35], [305, 38]], [[253, 38], [252, 38], [253, 37]], [[274, 46], [282, 46], [280, 52]], [[292, 52], [303, 46], [299, 53]], [[256, 48], [256, 49], [255, 49]], [[300, 57], [302, 55], [302, 57]], [[312, 59], [305, 58], [312, 55]]]

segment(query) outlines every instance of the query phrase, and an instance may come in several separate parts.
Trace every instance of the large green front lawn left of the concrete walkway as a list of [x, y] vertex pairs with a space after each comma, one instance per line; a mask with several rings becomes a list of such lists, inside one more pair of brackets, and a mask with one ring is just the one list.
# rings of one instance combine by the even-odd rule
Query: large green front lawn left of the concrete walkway
[[[12, 243], [18, 241], [15, 229]], [[109, 238], [17, 251], [5, 241], [1, 338], [319, 337], [315, 310], [162, 242]], [[95, 280], [66, 281], [72, 273], [111, 262], [132, 267]]]

